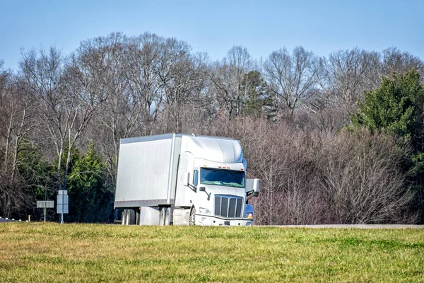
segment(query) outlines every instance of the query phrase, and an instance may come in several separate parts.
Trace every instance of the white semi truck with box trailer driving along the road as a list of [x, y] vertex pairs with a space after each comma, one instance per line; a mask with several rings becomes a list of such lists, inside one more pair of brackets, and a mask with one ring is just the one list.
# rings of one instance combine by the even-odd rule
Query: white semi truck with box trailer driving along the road
[[247, 200], [259, 194], [259, 179], [246, 180], [246, 169], [235, 139], [121, 139], [114, 207], [123, 225], [252, 225]]

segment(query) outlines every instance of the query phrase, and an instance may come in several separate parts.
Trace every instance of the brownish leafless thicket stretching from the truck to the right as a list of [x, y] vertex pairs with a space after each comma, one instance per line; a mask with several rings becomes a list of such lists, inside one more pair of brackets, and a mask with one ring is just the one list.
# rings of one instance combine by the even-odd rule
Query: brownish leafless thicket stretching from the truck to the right
[[415, 223], [394, 138], [365, 129], [298, 131], [288, 121], [220, 120], [204, 134], [240, 139], [261, 179], [257, 224]]

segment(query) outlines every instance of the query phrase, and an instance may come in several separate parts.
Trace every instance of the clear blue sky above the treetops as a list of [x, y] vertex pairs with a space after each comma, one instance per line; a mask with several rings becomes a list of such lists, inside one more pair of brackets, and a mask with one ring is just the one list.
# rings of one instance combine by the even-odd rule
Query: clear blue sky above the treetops
[[424, 0], [382, 1], [1, 1], [0, 59], [17, 69], [20, 49], [54, 45], [64, 54], [114, 31], [185, 40], [220, 59], [233, 45], [256, 59], [302, 45], [326, 56], [395, 46], [424, 59]]

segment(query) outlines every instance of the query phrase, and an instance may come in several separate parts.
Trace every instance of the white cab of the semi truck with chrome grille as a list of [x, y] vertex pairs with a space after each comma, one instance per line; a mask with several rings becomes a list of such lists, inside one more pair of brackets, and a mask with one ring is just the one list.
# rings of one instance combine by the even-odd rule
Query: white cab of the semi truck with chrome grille
[[[189, 207], [191, 225], [249, 226], [254, 220], [247, 198], [257, 196], [259, 180], [247, 182], [247, 161], [240, 141], [217, 137], [182, 137], [176, 207]], [[184, 217], [183, 222], [187, 221]], [[177, 222], [177, 223], [176, 223]], [[174, 224], [179, 224], [174, 220]]]

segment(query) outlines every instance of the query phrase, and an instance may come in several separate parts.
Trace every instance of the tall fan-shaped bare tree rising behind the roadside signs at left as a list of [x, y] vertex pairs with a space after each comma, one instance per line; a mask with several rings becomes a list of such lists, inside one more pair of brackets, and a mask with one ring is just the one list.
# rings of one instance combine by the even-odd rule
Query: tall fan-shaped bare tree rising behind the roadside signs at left
[[[27, 87], [39, 101], [37, 112], [56, 149], [58, 185], [63, 190], [73, 146], [105, 99], [105, 93], [95, 88], [95, 77], [88, 76], [81, 57], [71, 54], [65, 60], [54, 48], [49, 52], [40, 50], [38, 55], [35, 50], [24, 53], [20, 70]], [[62, 164], [64, 156], [66, 160]]]

